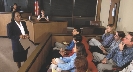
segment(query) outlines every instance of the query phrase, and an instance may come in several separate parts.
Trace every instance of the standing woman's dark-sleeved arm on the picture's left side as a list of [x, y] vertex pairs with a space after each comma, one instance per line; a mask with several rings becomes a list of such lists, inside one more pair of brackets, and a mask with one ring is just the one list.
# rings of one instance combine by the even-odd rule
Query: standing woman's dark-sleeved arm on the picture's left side
[[14, 35], [13, 34], [13, 26], [11, 23], [7, 24], [7, 36], [10, 39], [19, 39], [20, 38], [20, 35]]

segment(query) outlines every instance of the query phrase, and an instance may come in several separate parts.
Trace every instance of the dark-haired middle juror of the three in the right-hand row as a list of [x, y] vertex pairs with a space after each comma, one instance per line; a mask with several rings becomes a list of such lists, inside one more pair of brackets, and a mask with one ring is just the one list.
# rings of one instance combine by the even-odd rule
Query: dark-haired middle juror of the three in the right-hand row
[[[101, 46], [101, 50], [103, 52], [103, 54], [108, 54], [108, 52], [110, 50], [112, 50], [113, 48], [116, 48], [119, 46], [119, 43], [123, 40], [123, 38], [125, 37], [125, 33], [123, 31], [116, 31], [115, 32], [115, 36], [114, 36], [114, 41], [112, 42], [112, 44], [110, 45], [109, 48], [104, 48], [103, 46]], [[93, 56], [95, 55], [99, 55], [100, 53], [98, 52], [93, 52]], [[96, 57], [97, 58], [97, 57]]]

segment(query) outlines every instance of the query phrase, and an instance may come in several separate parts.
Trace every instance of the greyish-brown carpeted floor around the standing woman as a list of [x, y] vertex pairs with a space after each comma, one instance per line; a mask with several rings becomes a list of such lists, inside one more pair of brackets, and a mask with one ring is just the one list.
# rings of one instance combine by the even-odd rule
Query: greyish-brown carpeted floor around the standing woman
[[[28, 57], [35, 48], [36, 46], [31, 43], [30, 49], [28, 51]], [[17, 65], [13, 61], [11, 40], [0, 37], [0, 72], [17, 72], [17, 70]]]

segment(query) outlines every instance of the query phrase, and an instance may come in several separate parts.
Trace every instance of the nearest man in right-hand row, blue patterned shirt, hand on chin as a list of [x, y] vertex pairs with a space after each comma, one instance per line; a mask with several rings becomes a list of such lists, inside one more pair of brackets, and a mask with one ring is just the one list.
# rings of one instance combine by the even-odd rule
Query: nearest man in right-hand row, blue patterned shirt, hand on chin
[[129, 32], [119, 46], [115, 47], [107, 56], [103, 56], [102, 63], [97, 66], [99, 72], [112, 70], [113, 66], [123, 67], [133, 60], [133, 32]]

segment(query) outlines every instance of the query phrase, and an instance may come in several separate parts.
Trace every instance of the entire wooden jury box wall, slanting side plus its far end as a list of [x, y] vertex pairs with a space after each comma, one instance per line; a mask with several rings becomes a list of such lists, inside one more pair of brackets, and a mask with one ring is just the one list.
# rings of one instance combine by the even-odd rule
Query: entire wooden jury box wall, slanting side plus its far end
[[[18, 72], [39, 72], [42, 65], [47, 64], [48, 57], [51, 54], [52, 46], [54, 46], [55, 42], [62, 42], [72, 40], [72, 35], [70, 34], [50, 34], [45, 33], [42, 35], [42, 42], [37, 46], [37, 48], [32, 52], [32, 54], [28, 57], [22, 67], [18, 70]], [[87, 39], [95, 37], [100, 38], [101, 35], [85, 35]]]

